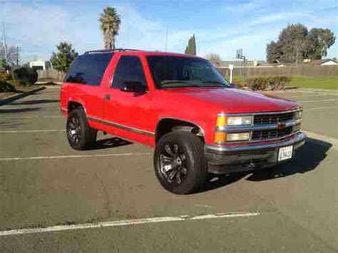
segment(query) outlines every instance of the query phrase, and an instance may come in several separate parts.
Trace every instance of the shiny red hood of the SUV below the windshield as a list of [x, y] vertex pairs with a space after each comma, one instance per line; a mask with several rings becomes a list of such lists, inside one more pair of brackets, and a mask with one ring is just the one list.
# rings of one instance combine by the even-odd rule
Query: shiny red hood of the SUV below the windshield
[[183, 99], [212, 104], [224, 113], [261, 113], [299, 107], [293, 100], [237, 88], [173, 88], [166, 91], [179, 93], [185, 97]]

